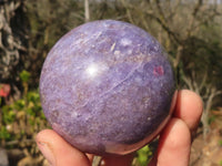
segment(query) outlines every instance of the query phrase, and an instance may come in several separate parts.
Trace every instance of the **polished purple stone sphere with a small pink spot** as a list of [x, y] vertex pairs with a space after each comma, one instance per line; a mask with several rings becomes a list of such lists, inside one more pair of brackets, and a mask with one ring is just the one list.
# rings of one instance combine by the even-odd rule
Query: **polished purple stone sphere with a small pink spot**
[[175, 91], [160, 43], [127, 22], [82, 24], [49, 52], [40, 77], [43, 112], [82, 152], [127, 154], [148, 142], [170, 117]]

